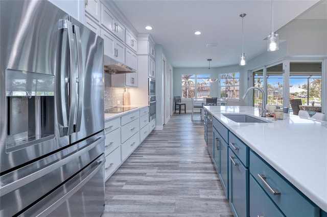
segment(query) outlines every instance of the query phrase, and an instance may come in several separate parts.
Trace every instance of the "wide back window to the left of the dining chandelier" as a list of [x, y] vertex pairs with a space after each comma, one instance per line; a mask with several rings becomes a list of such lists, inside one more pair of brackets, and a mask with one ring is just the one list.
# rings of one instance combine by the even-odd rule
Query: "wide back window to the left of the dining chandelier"
[[182, 74], [182, 98], [201, 98], [210, 95], [210, 83], [203, 79], [209, 78], [208, 74]]

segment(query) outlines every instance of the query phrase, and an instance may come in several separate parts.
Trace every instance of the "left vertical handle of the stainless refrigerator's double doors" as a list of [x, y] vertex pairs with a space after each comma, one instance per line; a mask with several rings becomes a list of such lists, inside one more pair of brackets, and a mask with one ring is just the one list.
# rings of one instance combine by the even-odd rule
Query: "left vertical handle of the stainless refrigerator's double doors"
[[[74, 36], [73, 36], [73, 26], [72, 23], [66, 19], [59, 21], [59, 29], [63, 29], [67, 31], [67, 41], [68, 41], [68, 52], [69, 52], [69, 75], [68, 77], [65, 77], [65, 70], [62, 70], [60, 68], [60, 78], [62, 79], [64, 77], [64, 84], [65, 87], [61, 87], [62, 84], [59, 83], [59, 88], [61, 91], [66, 92], [64, 96], [62, 94], [58, 94], [57, 97], [59, 98], [58, 103], [59, 105], [57, 108], [59, 108], [58, 111], [58, 122], [60, 126], [60, 135], [63, 137], [65, 135], [70, 135], [74, 132], [74, 117], [75, 117], [75, 108], [76, 108], [76, 82], [73, 80], [75, 77], [75, 48], [74, 48]], [[64, 46], [66, 43], [64, 43], [64, 39], [66, 38], [65, 35], [63, 37], [63, 44]], [[63, 48], [62, 48], [63, 49]], [[63, 55], [63, 52], [61, 53], [61, 58], [64, 59], [65, 55]], [[64, 61], [61, 61], [64, 62]], [[66, 91], [64, 90], [66, 88]], [[66, 105], [66, 99], [69, 97], [69, 105]], [[64, 115], [66, 114], [66, 106], [69, 106], [68, 116], [66, 120], [66, 117]]]

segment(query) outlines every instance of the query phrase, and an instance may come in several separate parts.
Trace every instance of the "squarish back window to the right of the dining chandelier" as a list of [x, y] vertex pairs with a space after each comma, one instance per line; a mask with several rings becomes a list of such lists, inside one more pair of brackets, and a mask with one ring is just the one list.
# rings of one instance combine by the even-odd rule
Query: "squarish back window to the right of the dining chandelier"
[[220, 97], [240, 98], [240, 72], [220, 75]]

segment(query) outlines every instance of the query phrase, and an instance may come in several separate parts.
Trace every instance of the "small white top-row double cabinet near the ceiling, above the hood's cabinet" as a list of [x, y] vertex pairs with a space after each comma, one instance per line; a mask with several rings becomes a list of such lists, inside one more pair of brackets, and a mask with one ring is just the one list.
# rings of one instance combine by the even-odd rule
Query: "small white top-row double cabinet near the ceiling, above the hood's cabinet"
[[101, 24], [121, 41], [125, 41], [125, 27], [101, 4]]

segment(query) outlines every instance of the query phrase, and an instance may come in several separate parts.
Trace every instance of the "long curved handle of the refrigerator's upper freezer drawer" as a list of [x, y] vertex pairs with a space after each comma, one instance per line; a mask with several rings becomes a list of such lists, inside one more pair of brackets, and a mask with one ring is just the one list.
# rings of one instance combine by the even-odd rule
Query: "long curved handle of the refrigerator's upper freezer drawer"
[[15, 191], [16, 189], [18, 189], [19, 187], [22, 187], [38, 178], [41, 178], [42, 176], [51, 173], [52, 171], [62, 167], [63, 165], [67, 164], [69, 161], [71, 161], [72, 159], [78, 158], [80, 155], [84, 154], [85, 152], [91, 150], [92, 148], [96, 147], [97, 145], [99, 145], [101, 142], [103, 142], [105, 139], [104, 135], [101, 135], [100, 137], [98, 137], [98, 139], [92, 143], [91, 145], [79, 150], [78, 152], [69, 155], [57, 162], [55, 162], [54, 164], [49, 165], [48, 167], [45, 167], [41, 170], [38, 170], [34, 173], [31, 173], [28, 176], [25, 176], [21, 179], [15, 180], [11, 183], [5, 184], [3, 186], [0, 187], [0, 195], [4, 196], [10, 192]]

